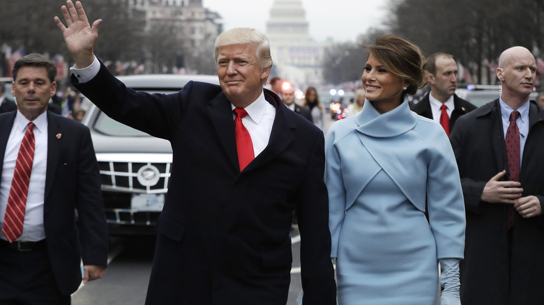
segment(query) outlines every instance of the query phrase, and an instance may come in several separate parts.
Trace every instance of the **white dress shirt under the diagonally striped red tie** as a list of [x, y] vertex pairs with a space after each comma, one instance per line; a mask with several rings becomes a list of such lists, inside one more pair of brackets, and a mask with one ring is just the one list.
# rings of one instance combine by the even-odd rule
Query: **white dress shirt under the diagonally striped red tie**
[[[29, 122], [27, 118], [17, 111], [6, 146], [6, 153], [3, 155], [3, 169], [0, 182], [1, 226], [3, 226], [3, 219], [6, 215], [17, 155], [19, 155], [19, 148], [24, 133], [27, 132]], [[40, 114], [32, 122], [36, 125], [33, 130], [35, 139], [34, 159], [32, 162], [32, 173], [30, 175], [29, 194], [27, 196], [22, 235], [17, 238], [17, 240], [25, 242], [37, 242], [45, 238], [43, 202], [45, 200], [45, 172], [47, 169], [47, 111]], [[0, 238], [7, 240], [2, 233], [0, 233]]]

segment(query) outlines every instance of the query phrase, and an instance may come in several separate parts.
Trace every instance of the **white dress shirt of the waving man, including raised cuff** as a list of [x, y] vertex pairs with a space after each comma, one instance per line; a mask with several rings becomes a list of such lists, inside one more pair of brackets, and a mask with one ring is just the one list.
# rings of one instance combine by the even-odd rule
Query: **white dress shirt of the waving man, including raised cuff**
[[[93, 79], [93, 77], [98, 74], [99, 70], [100, 62], [96, 56], [89, 67], [77, 69], [74, 65], [70, 68], [70, 71], [73, 72], [81, 83]], [[231, 107], [233, 110], [236, 108], [233, 104], [231, 104]], [[262, 92], [255, 102], [252, 102], [248, 107], [245, 107], [245, 111], [248, 112], [248, 115], [242, 118], [242, 124], [251, 136], [253, 152], [255, 153], [255, 157], [257, 157], [257, 155], [262, 153], [264, 148], [269, 144], [272, 125], [275, 118], [275, 107], [266, 101], [264, 93]], [[232, 120], [234, 120], [234, 118], [236, 118], [236, 116], [234, 116], [233, 113]]]

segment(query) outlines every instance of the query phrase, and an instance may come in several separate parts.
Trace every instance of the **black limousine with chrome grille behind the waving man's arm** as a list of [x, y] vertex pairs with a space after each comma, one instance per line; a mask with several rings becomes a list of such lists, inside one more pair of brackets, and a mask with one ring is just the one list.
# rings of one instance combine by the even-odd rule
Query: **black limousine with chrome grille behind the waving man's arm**
[[[149, 93], [176, 93], [190, 80], [219, 84], [213, 75], [118, 77], [127, 87]], [[163, 210], [172, 169], [169, 141], [106, 116], [86, 97], [82, 123], [91, 130], [100, 167], [109, 235], [152, 235]]]

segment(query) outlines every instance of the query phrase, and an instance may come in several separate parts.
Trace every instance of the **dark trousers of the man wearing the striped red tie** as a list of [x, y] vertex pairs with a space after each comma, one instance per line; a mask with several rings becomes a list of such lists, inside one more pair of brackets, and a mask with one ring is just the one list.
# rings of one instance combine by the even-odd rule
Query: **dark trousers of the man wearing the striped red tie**
[[70, 305], [56, 286], [47, 250], [0, 249], [0, 305]]

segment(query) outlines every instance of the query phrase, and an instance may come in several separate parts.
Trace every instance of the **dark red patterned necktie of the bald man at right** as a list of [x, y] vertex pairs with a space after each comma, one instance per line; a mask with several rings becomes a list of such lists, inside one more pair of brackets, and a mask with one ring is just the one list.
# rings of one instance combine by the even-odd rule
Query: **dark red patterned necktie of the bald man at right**
[[[511, 181], [520, 181], [520, 130], [517, 129], [515, 119], [520, 116], [517, 111], [510, 114], [510, 125], [506, 130], [506, 158], [508, 159], [508, 177]], [[514, 205], [508, 205], [506, 225], [512, 228], [514, 225]]]

